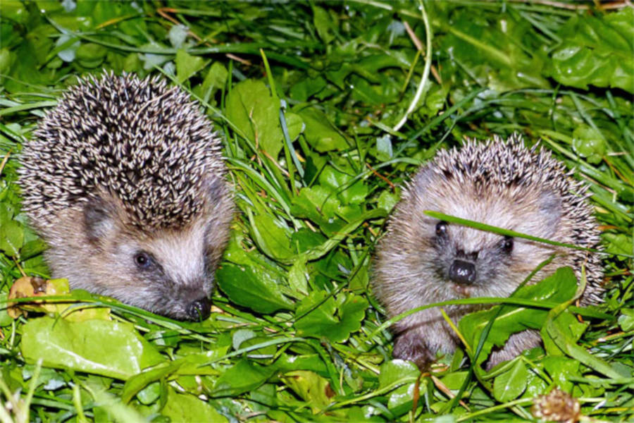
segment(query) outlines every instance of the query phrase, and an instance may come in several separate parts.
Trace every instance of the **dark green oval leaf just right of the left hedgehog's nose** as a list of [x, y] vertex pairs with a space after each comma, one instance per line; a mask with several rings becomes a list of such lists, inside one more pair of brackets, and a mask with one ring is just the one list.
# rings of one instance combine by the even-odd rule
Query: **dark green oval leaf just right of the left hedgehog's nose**
[[256, 312], [273, 313], [279, 309], [293, 309], [290, 300], [280, 293], [278, 282], [270, 274], [247, 266], [223, 264], [216, 271], [218, 286], [236, 304]]

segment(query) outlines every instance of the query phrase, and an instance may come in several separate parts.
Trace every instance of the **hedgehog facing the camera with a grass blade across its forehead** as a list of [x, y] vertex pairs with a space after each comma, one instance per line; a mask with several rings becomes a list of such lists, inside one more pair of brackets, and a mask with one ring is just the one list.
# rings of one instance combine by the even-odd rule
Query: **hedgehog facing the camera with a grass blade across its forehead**
[[[508, 297], [553, 253], [555, 258], [533, 281], [561, 266], [571, 266], [579, 278], [585, 266], [588, 283], [581, 303], [600, 302], [603, 272], [596, 254], [479, 231], [424, 214], [432, 210], [593, 248], [599, 243], [599, 229], [588, 203], [588, 185], [572, 174], [545, 149], [524, 147], [519, 135], [468, 140], [461, 149], [438, 152], [404, 187], [375, 253], [373, 292], [387, 315], [445, 300]], [[457, 323], [483, 307], [453, 305], [445, 311]], [[394, 357], [421, 369], [435, 360], [437, 352], [452, 353], [459, 343], [437, 307], [411, 314], [392, 329]], [[494, 350], [487, 367], [539, 344], [537, 331], [515, 333], [503, 348]]]

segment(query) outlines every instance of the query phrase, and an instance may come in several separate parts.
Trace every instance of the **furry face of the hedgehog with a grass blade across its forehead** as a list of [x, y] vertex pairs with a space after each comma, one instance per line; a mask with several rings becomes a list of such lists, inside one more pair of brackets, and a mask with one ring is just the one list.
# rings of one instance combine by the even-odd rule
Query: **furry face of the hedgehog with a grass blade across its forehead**
[[552, 248], [438, 221], [423, 211], [561, 239], [560, 204], [547, 191], [518, 190], [514, 186], [484, 188], [471, 180], [456, 182], [425, 169], [418, 174], [392, 223], [392, 236], [401, 246], [399, 257], [384, 261], [384, 266], [400, 267], [395, 273], [398, 275], [405, 268], [407, 284], [413, 290], [404, 292], [419, 293], [421, 298], [433, 301], [508, 296], [552, 254]]

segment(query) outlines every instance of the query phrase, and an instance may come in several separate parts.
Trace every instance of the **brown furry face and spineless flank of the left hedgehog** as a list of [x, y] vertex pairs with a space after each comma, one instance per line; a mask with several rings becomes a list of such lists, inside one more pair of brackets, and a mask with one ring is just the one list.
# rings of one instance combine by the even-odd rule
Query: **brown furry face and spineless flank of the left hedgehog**
[[213, 271], [228, 239], [230, 203], [224, 196], [213, 207], [206, 204], [182, 228], [139, 231], [123, 204], [104, 195], [58, 216], [55, 230], [45, 233], [51, 244], [46, 259], [54, 276], [68, 278], [73, 289], [175, 319], [206, 319]]

